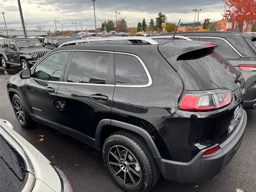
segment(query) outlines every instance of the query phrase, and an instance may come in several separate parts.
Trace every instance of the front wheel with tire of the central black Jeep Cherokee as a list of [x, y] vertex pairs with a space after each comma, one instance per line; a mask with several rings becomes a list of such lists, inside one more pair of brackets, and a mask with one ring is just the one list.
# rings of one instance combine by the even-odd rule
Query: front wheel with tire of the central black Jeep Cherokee
[[30, 114], [28, 113], [20, 96], [17, 94], [15, 94], [12, 98], [12, 106], [15, 116], [22, 127], [27, 128], [28, 126], [32, 125], [33, 120], [30, 117]]

